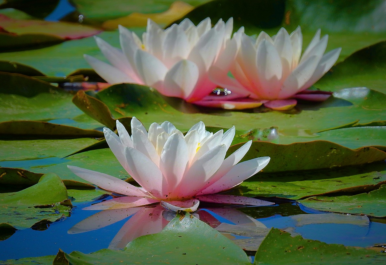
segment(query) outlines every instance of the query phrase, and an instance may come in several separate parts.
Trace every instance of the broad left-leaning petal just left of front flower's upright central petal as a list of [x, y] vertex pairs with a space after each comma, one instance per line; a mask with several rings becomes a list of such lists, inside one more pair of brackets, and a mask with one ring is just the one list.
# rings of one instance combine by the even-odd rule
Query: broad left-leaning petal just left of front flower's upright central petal
[[133, 172], [133, 179], [147, 192], [157, 198], [163, 198], [164, 194], [168, 194], [166, 179], [159, 167], [149, 157], [131, 147], [125, 147], [125, 157]]

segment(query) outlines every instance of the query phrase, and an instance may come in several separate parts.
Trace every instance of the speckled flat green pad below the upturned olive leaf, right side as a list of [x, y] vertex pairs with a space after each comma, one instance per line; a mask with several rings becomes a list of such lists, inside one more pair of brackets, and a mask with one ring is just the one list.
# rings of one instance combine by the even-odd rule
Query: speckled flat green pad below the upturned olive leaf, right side
[[[385, 165], [281, 174], [259, 173], [230, 191], [234, 195], [301, 199], [315, 195], [352, 195], [378, 189], [386, 183]], [[379, 171], [374, 171], [379, 170]]]

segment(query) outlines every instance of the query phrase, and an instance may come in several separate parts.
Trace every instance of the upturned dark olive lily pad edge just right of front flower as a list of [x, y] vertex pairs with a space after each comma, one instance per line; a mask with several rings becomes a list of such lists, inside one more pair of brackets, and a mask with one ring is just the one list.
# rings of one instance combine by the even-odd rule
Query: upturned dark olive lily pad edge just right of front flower
[[[227, 154], [232, 154], [241, 145], [242, 143], [231, 146]], [[271, 161], [263, 170], [264, 172], [332, 169], [386, 159], [386, 153], [374, 147], [352, 150], [328, 141], [313, 141], [289, 145], [252, 142], [251, 148], [242, 161], [263, 156], [271, 157]]]

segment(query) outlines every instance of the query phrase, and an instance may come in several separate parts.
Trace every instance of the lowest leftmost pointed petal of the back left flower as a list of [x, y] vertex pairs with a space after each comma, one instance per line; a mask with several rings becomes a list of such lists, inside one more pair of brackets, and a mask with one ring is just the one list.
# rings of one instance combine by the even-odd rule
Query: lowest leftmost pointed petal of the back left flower
[[110, 84], [119, 84], [119, 83], [137, 83], [130, 76], [111, 66], [106, 62], [102, 62], [94, 57], [88, 56], [87, 54], [83, 55], [85, 60], [90, 64], [90, 66], [99, 74], [103, 79]]

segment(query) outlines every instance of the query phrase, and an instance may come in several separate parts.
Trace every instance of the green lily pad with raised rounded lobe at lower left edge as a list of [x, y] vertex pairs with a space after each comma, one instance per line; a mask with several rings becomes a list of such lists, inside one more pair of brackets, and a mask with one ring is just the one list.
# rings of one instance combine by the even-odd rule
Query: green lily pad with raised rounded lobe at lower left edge
[[20, 229], [42, 220], [56, 221], [69, 216], [71, 203], [64, 203], [67, 199], [67, 190], [61, 179], [56, 174], [45, 174], [34, 186], [0, 194], [0, 223]]

